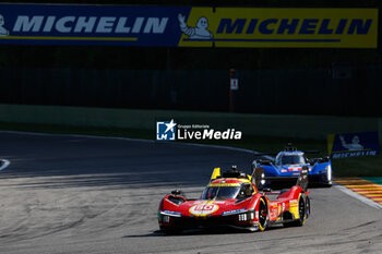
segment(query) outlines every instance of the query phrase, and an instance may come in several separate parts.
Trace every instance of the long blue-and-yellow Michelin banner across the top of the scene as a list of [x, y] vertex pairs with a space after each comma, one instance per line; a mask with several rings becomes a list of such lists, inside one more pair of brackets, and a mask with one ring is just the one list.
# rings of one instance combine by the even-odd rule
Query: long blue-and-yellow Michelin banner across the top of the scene
[[0, 4], [0, 44], [377, 48], [378, 9]]

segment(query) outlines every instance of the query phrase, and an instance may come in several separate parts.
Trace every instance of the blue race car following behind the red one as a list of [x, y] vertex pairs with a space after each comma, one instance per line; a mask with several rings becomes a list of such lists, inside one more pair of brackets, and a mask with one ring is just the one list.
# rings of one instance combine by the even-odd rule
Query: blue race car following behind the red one
[[[287, 146], [279, 152], [274, 160], [253, 160], [252, 167], [264, 169], [263, 186], [283, 185], [283, 183], [297, 180], [302, 167], [309, 169], [309, 183], [332, 186], [332, 162], [329, 157], [308, 159], [306, 154], [318, 152], [297, 150]], [[264, 156], [272, 154], [258, 154]], [[275, 155], [275, 154], [274, 154]]]

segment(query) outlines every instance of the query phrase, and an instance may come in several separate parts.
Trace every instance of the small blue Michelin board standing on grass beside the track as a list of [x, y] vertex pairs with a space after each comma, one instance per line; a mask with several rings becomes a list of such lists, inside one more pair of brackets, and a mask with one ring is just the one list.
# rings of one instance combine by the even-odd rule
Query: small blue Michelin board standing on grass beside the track
[[331, 134], [327, 136], [327, 148], [333, 159], [379, 155], [378, 132]]

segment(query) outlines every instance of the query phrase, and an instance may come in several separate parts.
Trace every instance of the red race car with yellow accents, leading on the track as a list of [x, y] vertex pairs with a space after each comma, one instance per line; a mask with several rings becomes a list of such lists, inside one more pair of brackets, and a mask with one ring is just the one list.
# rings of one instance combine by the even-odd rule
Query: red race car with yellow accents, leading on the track
[[[259, 191], [263, 168], [252, 176], [237, 170], [220, 174], [215, 168], [208, 185], [199, 199], [188, 199], [172, 191], [159, 204], [158, 222], [167, 234], [184, 229], [232, 227], [264, 231], [276, 223], [302, 226], [310, 214], [308, 168], [303, 167], [295, 186], [280, 192]], [[275, 196], [270, 198], [268, 196]]]

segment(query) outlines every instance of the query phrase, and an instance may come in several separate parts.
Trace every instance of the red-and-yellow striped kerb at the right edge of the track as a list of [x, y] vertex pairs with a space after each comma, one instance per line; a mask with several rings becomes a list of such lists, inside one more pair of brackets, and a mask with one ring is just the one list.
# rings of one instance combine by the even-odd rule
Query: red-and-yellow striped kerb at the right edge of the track
[[336, 183], [382, 205], [382, 185], [361, 178], [336, 179]]

